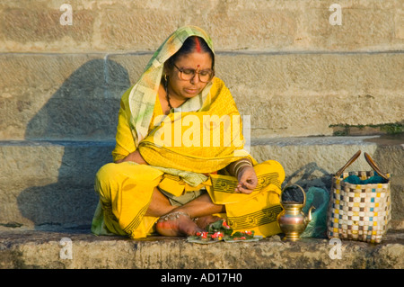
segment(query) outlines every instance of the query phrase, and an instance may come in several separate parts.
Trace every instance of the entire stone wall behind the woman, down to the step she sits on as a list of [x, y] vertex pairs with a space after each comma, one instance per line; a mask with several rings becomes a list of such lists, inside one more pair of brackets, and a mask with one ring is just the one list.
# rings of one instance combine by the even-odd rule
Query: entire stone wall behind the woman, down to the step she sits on
[[[63, 4], [72, 25], [62, 24]], [[331, 24], [332, 4], [341, 25]], [[403, 5], [0, 0], [0, 226], [91, 222], [93, 178], [111, 160], [121, 95], [172, 31], [194, 24], [211, 35], [216, 75], [251, 117], [254, 157], [277, 159], [288, 179], [329, 184], [362, 148], [394, 173], [393, 220], [403, 228], [402, 138], [312, 140], [346, 125], [402, 127]]]

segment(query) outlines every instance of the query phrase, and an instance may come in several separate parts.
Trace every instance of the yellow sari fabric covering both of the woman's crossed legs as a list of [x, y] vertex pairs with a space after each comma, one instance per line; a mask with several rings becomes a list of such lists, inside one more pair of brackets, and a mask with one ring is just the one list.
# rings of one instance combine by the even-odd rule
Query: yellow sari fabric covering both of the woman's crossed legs
[[145, 238], [154, 233], [158, 218], [145, 216], [154, 188], [180, 196], [206, 188], [217, 204], [224, 204], [221, 214], [234, 231], [254, 230], [264, 237], [280, 233], [277, 214], [280, 184], [285, 179], [282, 166], [273, 160], [254, 166], [259, 185], [251, 194], [234, 193], [237, 180], [233, 176], [210, 175], [198, 187], [184, 183], [179, 176], [166, 175], [153, 166], [124, 162], [107, 164], [97, 173], [95, 187], [100, 203], [92, 220], [97, 235], [127, 235]]

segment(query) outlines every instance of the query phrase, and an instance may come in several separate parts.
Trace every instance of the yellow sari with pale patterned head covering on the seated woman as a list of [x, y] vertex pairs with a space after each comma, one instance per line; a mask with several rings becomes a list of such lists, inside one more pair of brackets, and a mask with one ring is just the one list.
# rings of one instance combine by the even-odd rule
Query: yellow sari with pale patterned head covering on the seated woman
[[[222, 80], [215, 77], [201, 94], [169, 115], [162, 114], [157, 89], [163, 63], [192, 35], [205, 39], [213, 50], [204, 31], [180, 28], [122, 96], [112, 156], [116, 161], [138, 149], [149, 165], [124, 162], [101, 167], [95, 180], [100, 202], [92, 220], [94, 234], [145, 238], [153, 233], [158, 218], [145, 212], [156, 187], [172, 196], [206, 189], [212, 202], [225, 205], [221, 216], [234, 231], [249, 229], [264, 237], [281, 232], [277, 214], [284, 169], [273, 160], [258, 164], [243, 149], [240, 114]], [[242, 157], [251, 159], [259, 179], [250, 194], [234, 193], [238, 181], [224, 170]]]

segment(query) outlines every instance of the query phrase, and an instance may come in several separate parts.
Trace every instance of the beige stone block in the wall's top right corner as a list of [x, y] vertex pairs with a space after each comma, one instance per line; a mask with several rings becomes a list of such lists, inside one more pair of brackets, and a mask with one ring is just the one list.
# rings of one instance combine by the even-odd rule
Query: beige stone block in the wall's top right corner
[[[341, 24], [329, 18], [341, 7]], [[400, 14], [400, 1], [311, 1], [302, 8], [295, 35], [299, 49], [394, 50], [403, 41], [394, 37], [394, 18]]]

